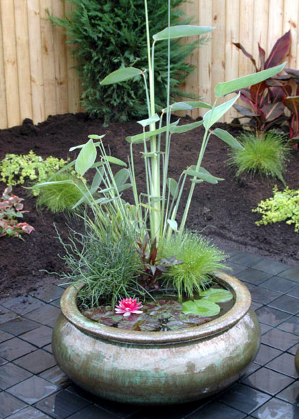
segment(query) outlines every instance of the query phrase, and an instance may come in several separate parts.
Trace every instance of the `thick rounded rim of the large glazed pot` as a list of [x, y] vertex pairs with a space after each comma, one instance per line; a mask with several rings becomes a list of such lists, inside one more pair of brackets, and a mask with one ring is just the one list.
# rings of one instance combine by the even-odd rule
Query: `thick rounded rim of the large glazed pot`
[[62, 294], [60, 307], [66, 319], [82, 332], [97, 338], [116, 342], [135, 344], [167, 344], [200, 340], [216, 335], [234, 326], [250, 309], [251, 295], [247, 287], [237, 278], [224, 273], [214, 272], [219, 283], [227, 287], [235, 297], [235, 304], [223, 316], [199, 326], [186, 329], [169, 330], [165, 332], [142, 332], [137, 330], [124, 330], [97, 323], [85, 317], [77, 307], [78, 288], [70, 285]]

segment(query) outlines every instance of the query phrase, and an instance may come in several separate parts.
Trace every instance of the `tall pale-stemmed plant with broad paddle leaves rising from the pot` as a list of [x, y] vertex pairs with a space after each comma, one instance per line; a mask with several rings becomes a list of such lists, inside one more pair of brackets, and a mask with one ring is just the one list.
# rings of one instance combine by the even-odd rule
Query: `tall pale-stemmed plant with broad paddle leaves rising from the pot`
[[[252, 84], [263, 82], [269, 77], [273, 77], [282, 71], [285, 64], [277, 65], [273, 68], [265, 69], [256, 74], [250, 74], [232, 81], [219, 83], [215, 87], [215, 101], [213, 105], [198, 101], [185, 101], [170, 103], [169, 83], [170, 83], [170, 42], [173, 39], [182, 37], [202, 35], [212, 31], [210, 26], [179, 25], [170, 26], [170, 1], [168, 0], [168, 27], [149, 37], [149, 19], [147, 0], [145, 0], [146, 34], [148, 47], [148, 69], [137, 67], [120, 68], [107, 75], [101, 82], [106, 86], [114, 83], [121, 83], [141, 77], [144, 80], [146, 104], [148, 109], [148, 118], [138, 121], [142, 127], [142, 132], [134, 136], [128, 136], [126, 141], [129, 143], [128, 163], [114, 156], [108, 155], [104, 146], [103, 137], [98, 135], [89, 135], [89, 141], [70, 151], [80, 149], [80, 152], [74, 162], [71, 162], [66, 168], [74, 166], [75, 171], [84, 176], [89, 169], [95, 169], [91, 187], [86, 186], [86, 193], [82, 199], [74, 206], [82, 202], [90, 205], [93, 210], [99, 232], [105, 234], [105, 230], [111, 223], [119, 225], [130, 225], [136, 237], [136, 248], [139, 249], [146, 265], [146, 269], [155, 273], [160, 270], [163, 274], [165, 265], [183, 266], [184, 261], [175, 259], [175, 255], [167, 255], [163, 258], [162, 248], [167, 247], [165, 243], [173, 235], [183, 237], [185, 234], [185, 225], [190, 208], [194, 189], [197, 184], [208, 182], [217, 184], [223, 179], [208, 172], [203, 167], [204, 152], [211, 135], [215, 135], [233, 148], [241, 148], [239, 142], [228, 132], [216, 128], [212, 129], [213, 124], [217, 122], [236, 102], [240, 96], [240, 90]], [[155, 108], [155, 46], [160, 42], [167, 42], [167, 103], [162, 109], [160, 115], [156, 113]], [[232, 99], [218, 105], [218, 99], [233, 92], [238, 92]], [[170, 122], [171, 112], [178, 110], [190, 110], [202, 107], [207, 110], [202, 121], [179, 125], [179, 119]], [[173, 179], [168, 177], [169, 155], [171, 149], [171, 137], [173, 134], [179, 134], [190, 131], [202, 125], [204, 127], [204, 137], [198, 150], [198, 156], [195, 162], [190, 162], [179, 176]], [[134, 164], [134, 146], [143, 145], [142, 158], [145, 164], [145, 191], [138, 190]], [[100, 159], [96, 161], [97, 153]], [[115, 168], [119, 170], [116, 171]], [[59, 172], [58, 172], [59, 173]], [[40, 186], [42, 186], [41, 184]], [[188, 186], [189, 192], [186, 203], [181, 202], [183, 190]], [[133, 203], [125, 201], [123, 191], [131, 189], [133, 193]], [[184, 207], [180, 221], [177, 220], [178, 209]], [[115, 223], [115, 219], [122, 222]], [[115, 227], [117, 228], [117, 227]], [[146, 239], [145, 239], [146, 237]], [[144, 243], [144, 244], [142, 244]], [[161, 253], [159, 248], [161, 244]], [[153, 262], [157, 267], [153, 268]], [[163, 263], [161, 263], [161, 261]], [[169, 263], [168, 263], [169, 262]], [[182, 263], [180, 263], [182, 262]], [[214, 265], [213, 265], [214, 266]], [[213, 267], [211, 268], [213, 269]], [[154, 272], [153, 272], [154, 271]], [[154, 285], [154, 284], [151, 284]], [[182, 285], [183, 287], [183, 285]], [[192, 295], [190, 290], [189, 295]]]

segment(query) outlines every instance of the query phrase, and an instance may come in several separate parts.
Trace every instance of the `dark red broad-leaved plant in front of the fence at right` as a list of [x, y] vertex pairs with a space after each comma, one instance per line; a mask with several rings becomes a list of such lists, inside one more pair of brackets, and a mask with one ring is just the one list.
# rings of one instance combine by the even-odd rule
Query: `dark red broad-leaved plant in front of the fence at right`
[[[237, 48], [250, 58], [256, 72], [278, 65], [287, 55], [291, 42], [291, 31], [279, 38], [267, 59], [265, 50], [259, 45], [260, 67], [256, 60], [239, 42], [233, 42]], [[249, 122], [242, 125], [254, 127], [258, 132], [264, 132], [274, 125], [287, 121], [290, 127], [290, 139], [298, 142], [299, 137], [299, 71], [285, 69], [285, 75], [271, 77], [250, 88], [242, 89], [240, 98], [250, 105], [249, 108], [234, 104], [235, 109]], [[286, 107], [291, 116], [285, 114]]]

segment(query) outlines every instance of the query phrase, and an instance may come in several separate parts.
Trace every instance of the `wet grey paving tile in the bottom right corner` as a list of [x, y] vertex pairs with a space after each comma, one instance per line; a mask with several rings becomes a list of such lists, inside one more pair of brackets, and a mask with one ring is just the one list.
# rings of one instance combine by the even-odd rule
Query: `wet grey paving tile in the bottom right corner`
[[251, 415], [257, 419], [299, 419], [299, 408], [274, 398]]

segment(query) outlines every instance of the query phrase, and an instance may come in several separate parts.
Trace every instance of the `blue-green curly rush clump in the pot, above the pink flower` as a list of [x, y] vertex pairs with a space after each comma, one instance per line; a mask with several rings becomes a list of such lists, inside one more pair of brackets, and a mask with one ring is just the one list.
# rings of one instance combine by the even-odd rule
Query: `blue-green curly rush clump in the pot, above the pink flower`
[[102, 230], [85, 215], [84, 233], [72, 231], [68, 243], [59, 238], [68, 268], [61, 277], [85, 284], [79, 292], [82, 302], [96, 307], [104, 299], [115, 306], [124, 297], [143, 295], [136, 280], [141, 264], [130, 228], [115, 219]]

